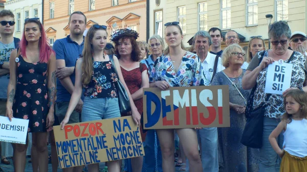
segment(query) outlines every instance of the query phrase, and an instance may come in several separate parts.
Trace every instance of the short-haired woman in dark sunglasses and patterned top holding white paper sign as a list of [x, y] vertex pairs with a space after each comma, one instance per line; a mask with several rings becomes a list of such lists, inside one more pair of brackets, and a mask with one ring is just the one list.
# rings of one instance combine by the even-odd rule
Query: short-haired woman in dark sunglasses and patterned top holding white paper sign
[[[256, 86], [252, 109], [267, 104], [264, 113], [264, 127], [262, 138], [262, 147], [260, 148], [260, 171], [277, 172], [279, 171], [280, 159], [273, 150], [268, 137], [280, 122], [280, 116], [285, 112], [283, 105], [283, 95], [290, 90], [301, 89], [307, 91], [304, 87], [306, 81], [305, 58], [301, 53], [288, 50], [291, 30], [286, 21], [276, 21], [269, 27], [269, 39], [272, 43], [272, 49], [259, 52], [250, 62], [245, 76], [242, 80], [244, 89], [251, 89]], [[283, 95], [267, 94], [265, 85], [267, 80], [268, 66], [274, 61], [288, 62], [293, 65], [290, 88], [284, 90]], [[277, 143], [282, 149], [283, 137], [279, 135]], [[287, 146], [287, 145], [286, 145]]]

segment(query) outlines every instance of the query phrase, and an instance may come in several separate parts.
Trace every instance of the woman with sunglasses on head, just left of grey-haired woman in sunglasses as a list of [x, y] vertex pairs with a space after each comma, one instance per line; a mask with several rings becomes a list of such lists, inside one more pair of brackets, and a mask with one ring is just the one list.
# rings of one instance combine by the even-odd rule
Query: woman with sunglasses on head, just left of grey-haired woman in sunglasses
[[243, 69], [246, 69], [252, 58], [261, 51], [266, 50], [265, 40], [262, 36], [252, 36], [248, 42], [247, 54], [245, 56], [245, 62], [242, 65]]

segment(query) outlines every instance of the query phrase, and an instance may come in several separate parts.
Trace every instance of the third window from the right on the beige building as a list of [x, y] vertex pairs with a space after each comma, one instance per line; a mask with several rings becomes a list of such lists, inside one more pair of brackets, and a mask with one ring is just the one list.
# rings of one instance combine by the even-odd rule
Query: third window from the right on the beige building
[[231, 28], [231, 4], [230, 0], [221, 0], [221, 28]]

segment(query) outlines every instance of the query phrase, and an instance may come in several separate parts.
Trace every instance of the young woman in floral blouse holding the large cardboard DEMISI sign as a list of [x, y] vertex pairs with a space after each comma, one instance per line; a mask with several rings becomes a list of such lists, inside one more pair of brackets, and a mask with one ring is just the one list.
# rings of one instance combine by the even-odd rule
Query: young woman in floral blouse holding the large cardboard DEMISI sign
[[[201, 61], [196, 54], [185, 51], [183, 34], [179, 22], [168, 22], [165, 28], [165, 41], [168, 45], [164, 55], [158, 57], [150, 74], [150, 87], [165, 90], [169, 87], [209, 85], [203, 75]], [[206, 82], [206, 83], [205, 83]], [[198, 150], [195, 129], [176, 129], [189, 163], [190, 171], [203, 171]], [[163, 171], [174, 169], [174, 130], [157, 130]]]

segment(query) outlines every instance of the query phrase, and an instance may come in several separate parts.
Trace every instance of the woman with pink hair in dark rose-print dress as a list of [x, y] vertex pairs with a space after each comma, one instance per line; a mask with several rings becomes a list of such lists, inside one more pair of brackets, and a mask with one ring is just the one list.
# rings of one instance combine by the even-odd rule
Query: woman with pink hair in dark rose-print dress
[[[10, 57], [6, 115], [29, 119], [33, 171], [48, 171], [47, 131], [54, 122], [55, 53], [39, 18], [25, 20], [23, 38]], [[14, 169], [25, 171], [27, 144], [14, 144]], [[34, 155], [35, 154], [35, 155]], [[34, 162], [37, 161], [37, 162]]]

